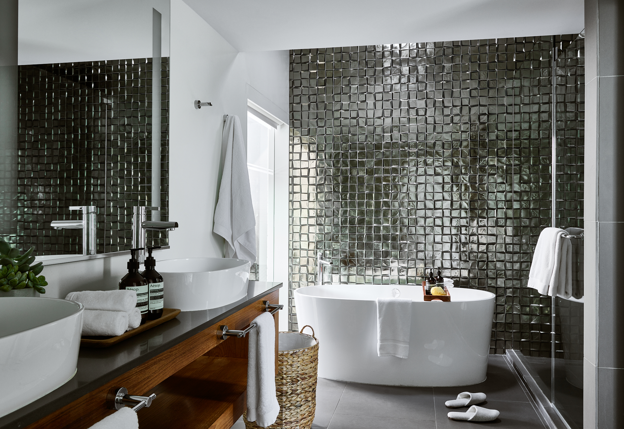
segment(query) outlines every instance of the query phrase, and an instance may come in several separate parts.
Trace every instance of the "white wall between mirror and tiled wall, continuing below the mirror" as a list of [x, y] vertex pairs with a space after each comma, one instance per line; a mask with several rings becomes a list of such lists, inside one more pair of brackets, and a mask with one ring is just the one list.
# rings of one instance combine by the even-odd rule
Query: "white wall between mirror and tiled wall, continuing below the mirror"
[[[246, 135], [251, 86], [256, 90], [254, 102], [277, 117], [286, 115], [287, 121], [288, 51], [237, 52], [185, 2], [172, 0], [170, 67], [169, 219], [177, 221], [180, 228], [169, 233], [171, 248], [157, 251], [154, 256], [158, 260], [222, 257], [223, 239], [212, 233], [212, 227], [220, 178], [223, 115], [238, 115]], [[212, 102], [212, 107], [195, 109], [196, 99]], [[283, 126], [282, 131], [286, 153], [280, 159], [288, 171], [288, 127]], [[288, 184], [279, 185], [286, 189], [287, 196]], [[285, 210], [281, 217], [286, 219], [287, 228], [287, 206]], [[286, 274], [278, 279], [283, 282], [288, 276], [287, 229], [285, 236], [281, 247], [286, 246], [286, 251], [280, 254], [285, 268], [282, 272]], [[127, 259], [117, 256], [46, 266], [46, 296], [115, 289], [126, 272]], [[287, 293], [287, 288], [284, 291]], [[280, 319], [285, 322], [286, 316]]]

